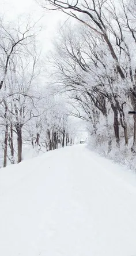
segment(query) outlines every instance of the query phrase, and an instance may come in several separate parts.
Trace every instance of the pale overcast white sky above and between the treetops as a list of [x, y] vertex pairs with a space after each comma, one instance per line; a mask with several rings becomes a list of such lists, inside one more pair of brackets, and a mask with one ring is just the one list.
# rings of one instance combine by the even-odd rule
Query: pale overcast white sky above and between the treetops
[[18, 16], [29, 15], [29, 13], [34, 20], [44, 16], [41, 19], [44, 29], [39, 37], [44, 51], [51, 49], [51, 40], [56, 34], [58, 23], [63, 24], [67, 19], [67, 16], [61, 12], [42, 9], [35, 0], [0, 0], [0, 13], [8, 21], [16, 20]]

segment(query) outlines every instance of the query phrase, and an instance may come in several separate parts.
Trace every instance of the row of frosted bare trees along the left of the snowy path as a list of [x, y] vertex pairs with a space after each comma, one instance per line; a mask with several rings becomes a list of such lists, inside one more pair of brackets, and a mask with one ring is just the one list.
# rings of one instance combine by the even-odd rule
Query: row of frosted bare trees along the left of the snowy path
[[[37, 24], [13, 26], [1, 20], [0, 146], [1, 165], [22, 160], [23, 145], [41, 150], [70, 145], [69, 116], [60, 99], [46, 86]], [[37, 31], [37, 32], [36, 32]], [[71, 134], [70, 134], [71, 132]], [[4, 156], [4, 157], [3, 157]]]

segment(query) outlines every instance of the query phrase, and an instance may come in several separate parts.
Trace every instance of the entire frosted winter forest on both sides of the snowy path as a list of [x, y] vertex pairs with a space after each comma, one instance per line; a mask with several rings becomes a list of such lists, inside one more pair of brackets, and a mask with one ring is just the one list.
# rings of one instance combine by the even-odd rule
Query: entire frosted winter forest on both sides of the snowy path
[[[40, 18], [0, 20], [0, 167], [73, 145], [84, 123], [93, 151], [135, 170], [135, 0], [33, 1]], [[46, 13], [63, 20], [44, 53]]]

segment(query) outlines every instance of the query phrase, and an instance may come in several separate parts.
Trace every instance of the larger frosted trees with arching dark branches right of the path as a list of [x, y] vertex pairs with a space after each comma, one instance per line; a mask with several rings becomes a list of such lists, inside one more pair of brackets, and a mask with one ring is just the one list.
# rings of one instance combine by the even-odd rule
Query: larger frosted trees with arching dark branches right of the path
[[[131, 135], [127, 113], [136, 110], [135, 1], [48, 0], [44, 8], [62, 10], [75, 19], [73, 26], [63, 26], [52, 57], [55, 81], [76, 102], [74, 115], [89, 122], [91, 134], [98, 135], [103, 123], [108, 152], [113, 138], [119, 147], [123, 136], [127, 146]], [[132, 152], [135, 125], [136, 116]]]

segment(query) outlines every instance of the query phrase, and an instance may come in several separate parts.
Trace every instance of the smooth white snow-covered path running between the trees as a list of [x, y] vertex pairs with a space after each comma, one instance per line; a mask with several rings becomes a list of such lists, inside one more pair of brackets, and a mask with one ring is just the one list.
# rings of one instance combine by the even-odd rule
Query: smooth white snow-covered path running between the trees
[[135, 256], [136, 175], [84, 145], [0, 171], [1, 256]]

